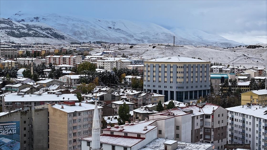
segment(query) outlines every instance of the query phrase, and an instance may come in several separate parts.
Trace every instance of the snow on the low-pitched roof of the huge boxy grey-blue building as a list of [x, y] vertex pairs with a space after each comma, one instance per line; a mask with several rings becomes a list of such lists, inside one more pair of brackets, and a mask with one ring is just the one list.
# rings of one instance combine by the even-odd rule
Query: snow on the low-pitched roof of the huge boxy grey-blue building
[[188, 58], [188, 57], [173, 56], [173, 57], [152, 59], [152, 60], [148, 60], [147, 62], [208, 62], [208, 61]]

